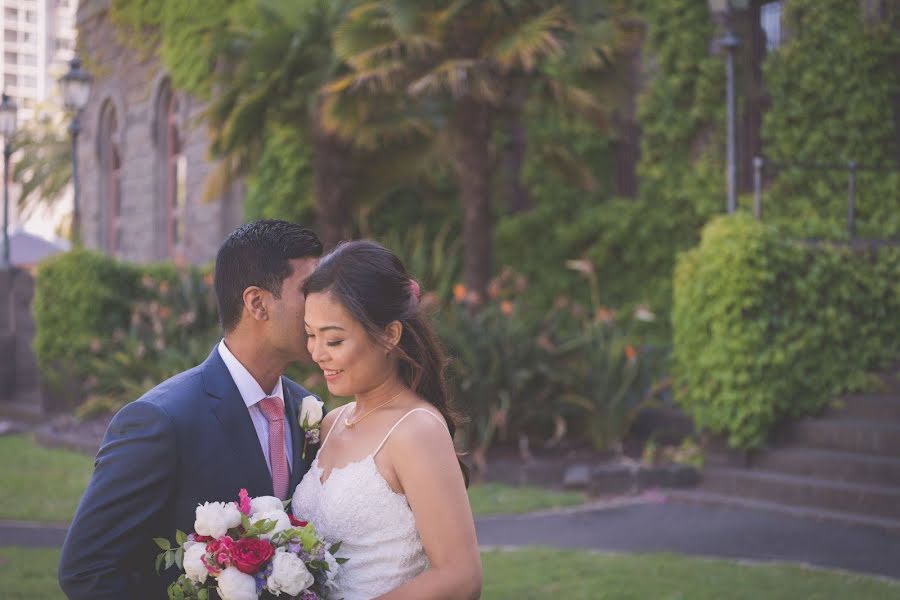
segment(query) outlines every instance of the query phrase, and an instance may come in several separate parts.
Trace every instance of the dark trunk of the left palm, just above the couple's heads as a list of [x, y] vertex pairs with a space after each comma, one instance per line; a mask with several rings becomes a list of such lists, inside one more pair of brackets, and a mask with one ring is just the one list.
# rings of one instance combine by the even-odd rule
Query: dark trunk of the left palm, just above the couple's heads
[[313, 168], [318, 234], [330, 250], [353, 236], [353, 150], [348, 143], [317, 129]]

